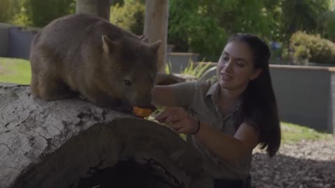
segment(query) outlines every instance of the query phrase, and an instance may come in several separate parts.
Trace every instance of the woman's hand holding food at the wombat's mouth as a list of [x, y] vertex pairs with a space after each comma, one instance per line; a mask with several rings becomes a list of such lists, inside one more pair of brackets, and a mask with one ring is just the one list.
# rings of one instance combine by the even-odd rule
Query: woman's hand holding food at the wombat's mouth
[[179, 134], [194, 134], [198, 130], [198, 120], [180, 107], [168, 107], [156, 116], [159, 123], [167, 123]]

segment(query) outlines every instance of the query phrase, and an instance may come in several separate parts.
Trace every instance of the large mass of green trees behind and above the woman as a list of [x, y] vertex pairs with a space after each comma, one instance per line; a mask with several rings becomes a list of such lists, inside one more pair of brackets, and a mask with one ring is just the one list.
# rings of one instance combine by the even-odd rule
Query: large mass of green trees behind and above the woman
[[[254, 33], [288, 44], [299, 29], [332, 39], [335, 24], [328, 15], [331, 0], [170, 0], [168, 42], [176, 51], [200, 53], [217, 61], [228, 36]], [[325, 16], [324, 16], [325, 17]], [[318, 22], [318, 19], [324, 22]], [[318, 26], [322, 24], [322, 26]]]

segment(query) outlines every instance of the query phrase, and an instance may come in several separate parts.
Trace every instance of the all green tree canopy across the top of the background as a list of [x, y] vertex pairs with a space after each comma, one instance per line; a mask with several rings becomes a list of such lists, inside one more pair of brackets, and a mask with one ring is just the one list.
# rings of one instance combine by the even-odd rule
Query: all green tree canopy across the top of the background
[[[43, 27], [74, 13], [75, 1], [0, 0], [0, 22]], [[144, 3], [113, 0], [111, 21], [140, 34]], [[334, 9], [334, 0], [170, 0], [168, 43], [176, 51], [200, 53], [205, 61], [217, 61], [232, 33], [254, 33], [285, 43], [292, 33], [304, 31], [334, 41]]]

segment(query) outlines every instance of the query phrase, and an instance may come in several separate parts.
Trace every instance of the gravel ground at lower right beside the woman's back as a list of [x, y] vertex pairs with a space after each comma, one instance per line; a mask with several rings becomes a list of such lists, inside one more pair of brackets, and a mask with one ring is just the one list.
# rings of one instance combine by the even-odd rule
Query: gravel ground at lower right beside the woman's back
[[256, 188], [335, 188], [335, 139], [283, 144], [272, 159], [256, 149], [251, 178]]

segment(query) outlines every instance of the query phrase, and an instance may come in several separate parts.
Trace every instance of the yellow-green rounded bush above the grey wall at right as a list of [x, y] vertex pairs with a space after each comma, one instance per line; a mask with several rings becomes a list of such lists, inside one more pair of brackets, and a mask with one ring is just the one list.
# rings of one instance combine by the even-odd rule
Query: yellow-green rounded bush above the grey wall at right
[[290, 38], [290, 49], [297, 64], [307, 59], [313, 63], [335, 64], [335, 43], [321, 38], [320, 35], [308, 35], [298, 31]]

